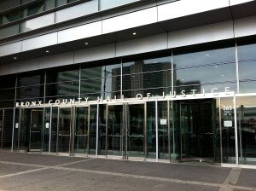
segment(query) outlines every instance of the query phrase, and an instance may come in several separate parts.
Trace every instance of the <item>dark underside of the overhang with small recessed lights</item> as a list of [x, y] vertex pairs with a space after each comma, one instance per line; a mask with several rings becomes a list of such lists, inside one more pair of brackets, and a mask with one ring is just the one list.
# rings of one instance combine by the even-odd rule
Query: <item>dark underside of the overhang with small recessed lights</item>
[[[151, 9], [158, 9], [158, 6], [155, 6]], [[148, 36], [154, 36], [156, 34], [179, 31], [183, 29], [193, 28], [196, 26], [207, 26], [213, 23], [223, 22], [226, 20], [240, 19], [243, 17], [255, 15], [256, 3], [255, 1], [236, 4], [233, 6], [226, 6], [220, 9], [212, 9], [205, 12], [200, 12], [196, 14], [188, 14], [185, 16], [177, 17], [170, 20], [158, 20], [158, 15], [155, 15], [155, 21], [150, 22], [146, 25], [141, 26], [127, 26], [123, 30], [117, 30], [114, 32], [105, 32], [101, 34], [91, 35], [88, 38], [79, 38], [71, 41], [59, 43], [58, 41], [53, 41], [52, 43], [45, 43], [42, 47], [36, 49], [19, 49], [17, 48], [12, 52], [7, 51], [6, 54], [0, 52], [0, 64], [15, 62], [15, 61], [24, 61], [32, 58], [45, 56], [45, 55], [55, 55], [63, 52], [74, 51], [78, 49], [89, 49], [92, 47], [102, 46], [109, 43], [119, 43], [131, 39], [145, 38]], [[241, 11], [246, 10], [246, 11]], [[132, 13], [131, 13], [132, 14]], [[139, 19], [139, 18], [137, 18]], [[153, 19], [154, 20], [154, 19]], [[102, 23], [102, 20], [98, 22]], [[101, 26], [102, 27], [102, 26]], [[133, 34], [136, 32], [136, 35]], [[52, 32], [55, 33], [55, 32]], [[55, 35], [55, 34], [53, 34]], [[59, 37], [58, 34], [57, 38]], [[76, 35], [73, 33], [73, 35]], [[31, 38], [32, 39], [32, 38]], [[30, 39], [28, 39], [30, 40]], [[40, 39], [39, 39], [40, 40]], [[42, 38], [41, 41], [47, 39]], [[20, 45], [19, 41], [16, 42], [17, 46]], [[33, 43], [33, 41], [32, 41]], [[34, 43], [38, 43], [34, 41]], [[86, 43], [86, 44], [85, 44]], [[9, 43], [7, 45], [11, 45]], [[10, 46], [10, 49], [12, 47]], [[1, 47], [0, 47], [1, 50]], [[2, 51], [4, 51], [2, 49]], [[1, 56], [2, 55], [2, 56]], [[14, 57], [17, 59], [14, 60]]]

